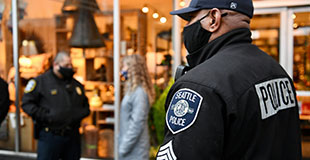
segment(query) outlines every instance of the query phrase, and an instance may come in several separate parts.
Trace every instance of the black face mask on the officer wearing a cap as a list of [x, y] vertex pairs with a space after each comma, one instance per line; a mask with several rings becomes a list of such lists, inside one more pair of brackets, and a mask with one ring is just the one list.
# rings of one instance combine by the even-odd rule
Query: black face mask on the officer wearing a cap
[[[210, 13], [210, 12], [209, 12]], [[183, 39], [184, 45], [189, 52], [189, 54], [195, 52], [199, 48], [203, 47], [209, 42], [212, 32], [209, 32], [202, 28], [200, 21], [209, 16], [209, 13], [197, 22], [184, 27], [183, 30]]]

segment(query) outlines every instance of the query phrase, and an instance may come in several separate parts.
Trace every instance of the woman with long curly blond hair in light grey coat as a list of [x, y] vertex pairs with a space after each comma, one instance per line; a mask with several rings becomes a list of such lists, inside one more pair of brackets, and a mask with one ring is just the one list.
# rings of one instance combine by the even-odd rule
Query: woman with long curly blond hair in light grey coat
[[148, 113], [155, 92], [145, 59], [140, 55], [122, 60], [122, 79], [125, 81], [121, 103], [119, 156], [120, 160], [149, 159]]

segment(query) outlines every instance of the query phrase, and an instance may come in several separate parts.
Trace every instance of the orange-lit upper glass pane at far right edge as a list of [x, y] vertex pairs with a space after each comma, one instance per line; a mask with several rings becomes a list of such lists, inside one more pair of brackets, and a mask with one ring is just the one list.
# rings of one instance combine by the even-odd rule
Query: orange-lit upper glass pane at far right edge
[[310, 12], [294, 18], [294, 83], [297, 90], [310, 91]]

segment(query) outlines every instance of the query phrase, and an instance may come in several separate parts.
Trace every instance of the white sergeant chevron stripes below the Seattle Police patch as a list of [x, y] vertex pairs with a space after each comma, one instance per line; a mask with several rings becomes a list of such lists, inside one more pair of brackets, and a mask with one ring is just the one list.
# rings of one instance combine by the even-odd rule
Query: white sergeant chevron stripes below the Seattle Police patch
[[177, 160], [172, 148], [172, 140], [159, 148], [156, 160]]

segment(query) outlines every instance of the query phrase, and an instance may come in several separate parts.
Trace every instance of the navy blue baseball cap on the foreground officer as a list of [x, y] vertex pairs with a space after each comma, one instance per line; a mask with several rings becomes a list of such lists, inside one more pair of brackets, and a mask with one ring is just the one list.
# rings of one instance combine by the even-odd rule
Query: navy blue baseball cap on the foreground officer
[[189, 13], [201, 9], [228, 9], [253, 17], [252, 0], [192, 0], [188, 7], [170, 12], [172, 15], [178, 15], [186, 21], [190, 20]]

